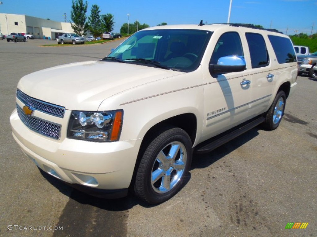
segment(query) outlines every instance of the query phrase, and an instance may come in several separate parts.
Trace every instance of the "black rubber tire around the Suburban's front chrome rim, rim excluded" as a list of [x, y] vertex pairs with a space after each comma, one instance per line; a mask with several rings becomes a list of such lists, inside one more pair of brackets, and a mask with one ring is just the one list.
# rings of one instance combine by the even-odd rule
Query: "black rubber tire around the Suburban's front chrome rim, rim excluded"
[[[169, 143], [181, 142], [187, 152], [186, 164], [181, 180], [168, 192], [157, 193], [153, 190], [151, 184], [151, 173], [154, 161], [159, 152]], [[137, 196], [150, 204], [159, 204], [173, 197], [183, 186], [184, 177], [188, 173], [192, 158], [192, 144], [188, 134], [180, 128], [171, 128], [161, 132], [155, 137], [146, 148], [137, 172], [135, 181], [135, 192]]]

